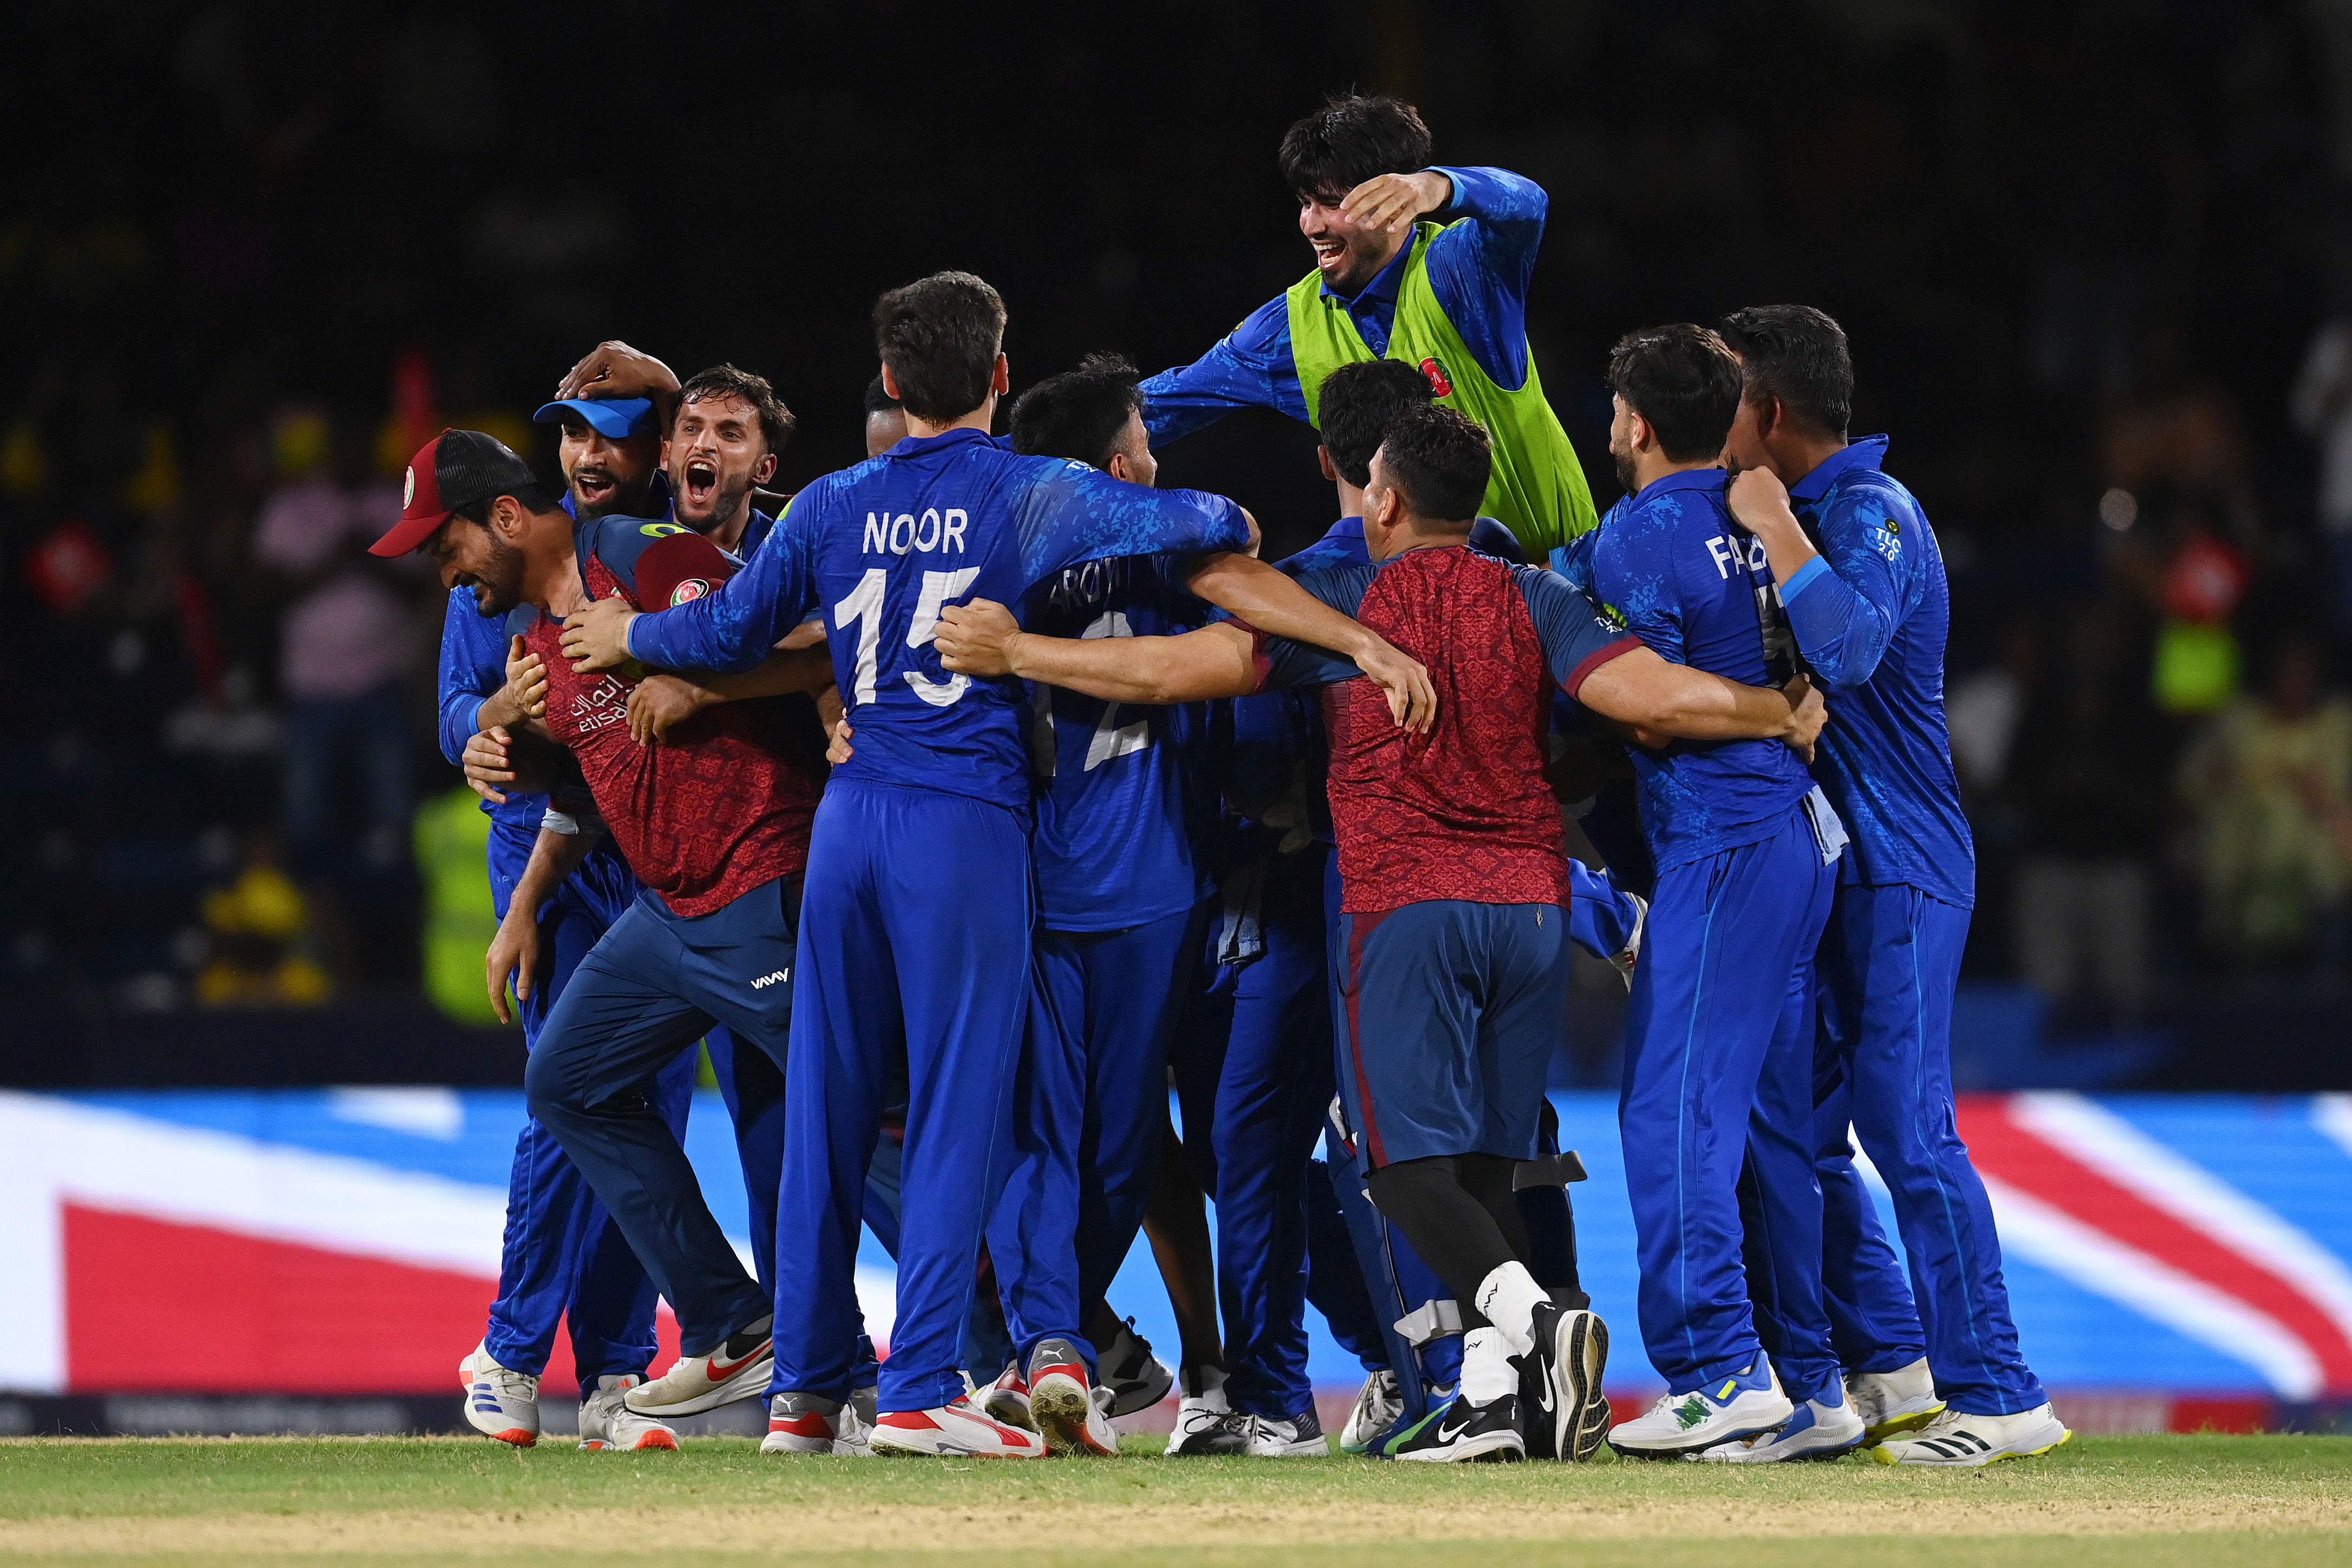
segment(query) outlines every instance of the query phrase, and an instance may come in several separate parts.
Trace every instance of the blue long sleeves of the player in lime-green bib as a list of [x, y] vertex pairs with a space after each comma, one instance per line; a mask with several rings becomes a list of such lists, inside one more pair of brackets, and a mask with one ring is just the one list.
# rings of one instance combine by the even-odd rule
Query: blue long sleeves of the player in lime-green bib
[[[1454, 181], [1451, 200], [1435, 214], [1446, 228], [1430, 240], [1430, 287], [1446, 320], [1498, 388], [1526, 383], [1526, 284], [1543, 244], [1550, 197], [1543, 186], [1510, 169], [1432, 167]], [[1348, 303], [1348, 317], [1376, 355], [1388, 353], [1404, 287], [1406, 244]], [[1324, 294], [1334, 294], [1324, 284]], [[1143, 383], [1143, 425], [1152, 447], [1214, 425], [1235, 409], [1279, 409], [1305, 421], [1298, 360], [1291, 355], [1289, 296], [1275, 294], [1192, 364], [1164, 369]]]

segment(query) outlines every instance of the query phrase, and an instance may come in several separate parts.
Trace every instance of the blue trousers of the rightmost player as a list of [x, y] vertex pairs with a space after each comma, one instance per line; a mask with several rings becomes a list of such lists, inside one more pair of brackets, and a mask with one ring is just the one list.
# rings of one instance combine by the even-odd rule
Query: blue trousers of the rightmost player
[[[1952, 1114], [1952, 992], [1969, 910], [1915, 886], [1839, 886], [1820, 938], [1816, 1164], [1825, 1204], [1825, 1293], [1856, 1371], [1917, 1359], [1969, 1415], [2049, 1399], [2018, 1354], [2002, 1239]], [[1910, 1291], [1877, 1234], [1846, 1128], [1893, 1194]], [[1877, 1248], [1842, 1246], [1867, 1234]], [[1917, 1300], [1917, 1319], [1905, 1307]]]

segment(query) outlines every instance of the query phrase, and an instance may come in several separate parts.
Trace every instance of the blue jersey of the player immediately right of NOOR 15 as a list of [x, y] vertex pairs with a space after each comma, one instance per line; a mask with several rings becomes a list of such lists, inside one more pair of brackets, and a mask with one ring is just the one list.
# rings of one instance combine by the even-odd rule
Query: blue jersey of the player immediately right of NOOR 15
[[[1047, 637], [1176, 637], [1209, 607], [1174, 557], [1122, 555], [1063, 567], [1030, 588], [1018, 618]], [[1122, 931], [1207, 898], [1216, 802], [1197, 752], [1209, 705], [1105, 703], [1044, 684], [1030, 701], [1037, 924]]]

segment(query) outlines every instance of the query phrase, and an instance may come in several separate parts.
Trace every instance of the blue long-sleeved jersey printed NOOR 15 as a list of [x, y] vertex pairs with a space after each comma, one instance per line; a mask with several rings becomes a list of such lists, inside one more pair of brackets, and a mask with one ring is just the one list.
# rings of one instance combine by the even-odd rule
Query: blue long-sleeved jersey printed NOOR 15
[[938, 611], [1018, 604], [1063, 567], [1117, 555], [1242, 550], [1232, 501], [1145, 489], [1089, 463], [1004, 451], [981, 430], [908, 437], [816, 480], [717, 592], [640, 616], [630, 654], [673, 670], [750, 670], [807, 611], [826, 611], [856, 726], [835, 778], [1030, 804], [1018, 679], [938, 665]]

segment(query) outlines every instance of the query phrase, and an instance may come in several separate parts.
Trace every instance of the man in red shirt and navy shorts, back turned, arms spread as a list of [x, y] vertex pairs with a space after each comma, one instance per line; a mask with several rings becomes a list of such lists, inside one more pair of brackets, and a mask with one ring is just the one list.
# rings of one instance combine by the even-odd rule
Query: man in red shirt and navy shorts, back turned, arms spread
[[1183, 637], [1051, 639], [976, 602], [941, 614], [938, 649], [953, 670], [1115, 701], [1324, 686], [1345, 889], [1341, 1091], [1374, 1204], [1456, 1293], [1468, 1328], [1454, 1408], [1395, 1458], [1517, 1460], [1541, 1422], [1552, 1453], [1583, 1460], [1609, 1420], [1609, 1333], [1529, 1274], [1512, 1201], [1515, 1166], [1536, 1157], [1569, 985], [1569, 863], [1538, 745], [1548, 689], [1646, 736], [1799, 748], [1823, 708], [1802, 682], [1766, 691], [1670, 665], [1564, 578], [1470, 550], [1489, 465], [1486, 433], [1461, 414], [1399, 418], [1364, 491], [1371, 559], [1298, 578], [1428, 665], [1437, 722], [1425, 733], [1395, 726], [1348, 661], [1237, 621]]

